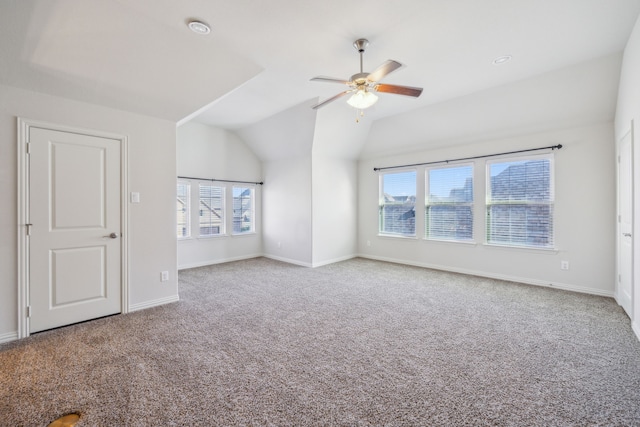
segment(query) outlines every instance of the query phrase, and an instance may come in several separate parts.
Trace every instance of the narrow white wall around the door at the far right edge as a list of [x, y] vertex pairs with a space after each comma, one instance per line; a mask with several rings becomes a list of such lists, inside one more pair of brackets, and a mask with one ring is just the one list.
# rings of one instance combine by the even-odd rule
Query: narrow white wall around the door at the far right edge
[[629, 37], [624, 50], [622, 71], [620, 73], [620, 87], [618, 91], [618, 108], [615, 119], [615, 140], [620, 140], [634, 125], [634, 300], [633, 300], [633, 329], [640, 338], [640, 18]]

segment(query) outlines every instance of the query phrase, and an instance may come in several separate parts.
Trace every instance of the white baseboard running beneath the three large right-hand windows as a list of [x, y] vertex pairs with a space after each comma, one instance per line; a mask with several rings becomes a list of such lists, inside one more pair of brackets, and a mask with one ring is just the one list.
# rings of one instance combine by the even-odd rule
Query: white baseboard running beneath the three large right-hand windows
[[412, 265], [415, 267], [431, 268], [433, 270], [449, 271], [452, 273], [467, 274], [470, 276], [486, 277], [488, 279], [506, 280], [509, 282], [523, 283], [525, 285], [535, 285], [535, 286], [542, 286], [546, 288], [562, 289], [565, 291], [580, 292], [583, 294], [598, 295], [598, 296], [610, 297], [610, 298], [614, 297], [613, 292], [602, 291], [599, 289], [585, 288], [582, 286], [569, 285], [566, 283], [557, 283], [557, 282], [549, 283], [547, 281], [530, 279], [527, 277], [508, 276], [504, 274], [488, 273], [486, 271], [467, 270], [463, 268], [434, 265], [434, 264], [428, 264], [423, 262], [411, 262], [411, 261], [406, 261], [402, 259], [378, 257], [378, 256], [372, 256], [372, 255], [358, 255], [358, 256], [360, 258], [374, 259], [377, 261], [386, 261], [386, 262], [393, 262], [395, 264], [404, 264], [404, 265]]

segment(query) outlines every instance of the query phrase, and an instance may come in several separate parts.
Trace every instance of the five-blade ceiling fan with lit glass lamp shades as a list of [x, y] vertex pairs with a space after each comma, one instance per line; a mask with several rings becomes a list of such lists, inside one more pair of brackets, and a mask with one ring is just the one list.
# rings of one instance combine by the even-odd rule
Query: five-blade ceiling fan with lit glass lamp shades
[[378, 68], [376, 68], [372, 73], [363, 72], [362, 54], [364, 53], [367, 46], [369, 46], [369, 41], [367, 39], [358, 39], [353, 42], [353, 47], [355, 47], [356, 50], [360, 52], [360, 72], [351, 76], [350, 80], [342, 80], [322, 76], [314, 77], [311, 79], [311, 81], [314, 82], [340, 83], [349, 87], [348, 90], [340, 92], [339, 94], [326, 99], [311, 108], [317, 109], [320, 107], [324, 107], [328, 103], [333, 102], [336, 99], [341, 98], [347, 94], [352, 94], [351, 97], [347, 100], [347, 103], [352, 107], [357, 108], [358, 110], [364, 110], [365, 108], [369, 108], [376, 103], [376, 101], [378, 100], [378, 96], [374, 92], [393, 93], [397, 95], [413, 96], [416, 98], [420, 96], [420, 94], [422, 93], [422, 88], [419, 87], [378, 83], [383, 77], [402, 67], [402, 64], [397, 61], [389, 59], [378, 66]]

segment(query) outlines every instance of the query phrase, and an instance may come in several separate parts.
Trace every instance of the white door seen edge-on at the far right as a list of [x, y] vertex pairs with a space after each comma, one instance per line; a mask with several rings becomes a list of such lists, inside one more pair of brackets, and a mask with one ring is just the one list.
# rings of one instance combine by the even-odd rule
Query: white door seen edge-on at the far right
[[633, 133], [618, 141], [618, 282], [616, 298], [633, 318]]

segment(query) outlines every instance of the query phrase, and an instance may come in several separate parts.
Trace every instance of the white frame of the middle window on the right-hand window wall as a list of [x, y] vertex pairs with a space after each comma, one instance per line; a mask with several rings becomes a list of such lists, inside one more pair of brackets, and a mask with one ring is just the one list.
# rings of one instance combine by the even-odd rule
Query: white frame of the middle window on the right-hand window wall
[[[443, 169], [460, 169], [460, 168], [470, 168], [470, 176], [471, 178], [471, 201], [470, 202], [455, 202], [455, 201], [439, 201], [432, 202], [431, 201], [431, 179], [430, 172], [434, 170], [443, 170]], [[464, 162], [464, 163], [456, 163], [456, 164], [447, 164], [447, 165], [434, 165], [428, 166], [424, 171], [424, 179], [425, 179], [425, 188], [424, 188], [424, 239], [429, 241], [443, 241], [443, 242], [451, 242], [451, 243], [475, 243], [475, 163], [474, 162]], [[464, 187], [463, 187], [464, 188]], [[453, 190], [453, 189], [452, 189]], [[432, 236], [430, 235], [430, 216], [429, 211], [431, 207], [435, 206], [452, 206], [452, 207], [468, 207], [471, 215], [471, 237], [469, 238], [456, 238], [455, 236], [452, 238], [448, 238], [446, 236]]]

